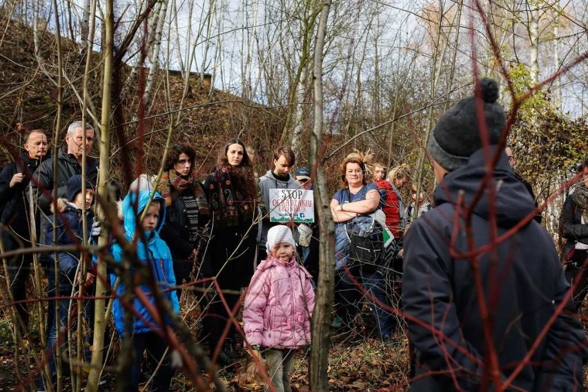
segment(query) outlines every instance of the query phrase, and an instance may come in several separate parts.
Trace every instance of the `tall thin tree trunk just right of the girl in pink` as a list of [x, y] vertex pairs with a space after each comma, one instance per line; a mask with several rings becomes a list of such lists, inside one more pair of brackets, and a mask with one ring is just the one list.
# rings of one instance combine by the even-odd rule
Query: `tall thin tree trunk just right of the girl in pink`
[[311, 373], [311, 391], [328, 391], [326, 372], [329, 366], [329, 350], [325, 349], [331, 344], [331, 311], [335, 288], [335, 260], [333, 259], [335, 224], [329, 206], [329, 195], [326, 187], [326, 178], [322, 170], [322, 155], [324, 155], [323, 132], [323, 92], [322, 92], [322, 56], [324, 50], [324, 37], [329, 19], [331, 0], [325, 0], [317, 29], [315, 43], [315, 61], [313, 69], [313, 83], [315, 92], [314, 128], [311, 138], [311, 164], [312, 176], [315, 178], [315, 203], [319, 224], [321, 227], [320, 239], [320, 269], [318, 291], [312, 322], [312, 350], [309, 360]]

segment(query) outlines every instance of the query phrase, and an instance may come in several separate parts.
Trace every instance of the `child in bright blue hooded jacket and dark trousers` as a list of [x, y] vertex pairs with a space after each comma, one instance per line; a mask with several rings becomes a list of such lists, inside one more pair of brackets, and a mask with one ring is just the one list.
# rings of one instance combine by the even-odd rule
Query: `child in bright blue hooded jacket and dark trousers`
[[[138, 266], [128, 263], [124, 250], [119, 244], [112, 246], [112, 257], [122, 266], [122, 269], [117, 269], [121, 280], [116, 289], [117, 295], [112, 306], [112, 315], [119, 335], [121, 338], [132, 339], [135, 351], [130, 380], [125, 391], [138, 390], [140, 367], [145, 351], [148, 354], [148, 360], [157, 363], [168, 349], [168, 342], [161, 337], [159, 330], [170, 326], [171, 320], [165, 316], [154, 317], [144, 302], [148, 301], [150, 308], [158, 311], [157, 316], [161, 314], [159, 312], [161, 306], [153, 295], [153, 288], [157, 287], [161, 297], [171, 304], [176, 313], [179, 313], [177, 295], [175, 291], [170, 290], [176, 284], [171, 253], [164, 240], [159, 238], [159, 231], [166, 220], [165, 199], [159, 193], [155, 193], [150, 203], [149, 200], [150, 193], [147, 190], [138, 190], [128, 193], [122, 202], [125, 236], [129, 242], [136, 244], [137, 259], [143, 264], [145, 273], [139, 273]], [[124, 276], [127, 273], [130, 275]], [[117, 275], [110, 275], [110, 283], [113, 287], [116, 280]], [[129, 282], [133, 282], [133, 293], [126, 293]], [[142, 301], [137, 294], [143, 298]], [[128, 304], [130, 306], [124, 306], [122, 301], [130, 301]], [[167, 355], [153, 377], [150, 391], [168, 391], [174, 372], [170, 357]]]

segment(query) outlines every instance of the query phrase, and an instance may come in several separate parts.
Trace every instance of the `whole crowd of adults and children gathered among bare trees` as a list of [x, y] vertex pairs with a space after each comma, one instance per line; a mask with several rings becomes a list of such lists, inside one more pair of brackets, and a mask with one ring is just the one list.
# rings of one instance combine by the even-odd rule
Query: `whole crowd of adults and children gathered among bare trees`
[[[498, 148], [506, 116], [497, 98], [496, 82], [482, 79], [477, 95], [438, 120], [427, 146], [438, 182], [432, 200], [411, 184], [405, 165], [389, 168], [369, 153], [351, 153], [340, 164], [340, 189], [330, 205], [333, 329], [364, 327], [364, 304], [384, 344], [406, 327], [413, 391], [475, 391], [499, 383], [513, 390], [582, 390], [588, 341], [576, 312], [588, 290], [588, 159], [565, 200], [567, 242], [558, 255], [540, 226], [532, 188], [513, 172], [511, 146]], [[84, 297], [97, 279], [96, 260], [83, 246], [104, 224], [92, 216], [94, 137], [89, 124], [75, 121], [57, 157], [48, 157], [46, 133], [32, 130], [22, 155], [0, 173], [3, 251], [37, 242], [66, 249], [40, 257], [47, 295], [60, 298], [48, 301], [51, 375], [57, 348], [75, 326], [76, 291]], [[492, 157], [496, 164], [489, 167]], [[135, 353], [127, 390], [137, 391], [145, 368], [155, 373], [151, 391], [169, 389], [175, 369], [167, 337], [173, 314], [184, 311], [179, 295], [188, 291], [198, 298], [198, 340], [213, 362], [231, 369], [245, 349], [266, 363], [276, 391], [291, 391], [294, 355], [311, 344], [320, 226], [280, 222], [272, 211], [276, 192], [311, 193], [311, 170], [294, 172], [295, 153], [280, 147], [257, 180], [240, 139], [226, 142], [203, 181], [195, 159], [190, 145], [174, 144], [163, 175], [142, 176], [120, 203], [124, 235], [110, 238], [108, 272], [115, 328]], [[21, 334], [30, 324], [31, 263], [31, 253], [7, 263]], [[237, 346], [238, 335], [244, 347]], [[88, 345], [78, 360], [89, 360]]]

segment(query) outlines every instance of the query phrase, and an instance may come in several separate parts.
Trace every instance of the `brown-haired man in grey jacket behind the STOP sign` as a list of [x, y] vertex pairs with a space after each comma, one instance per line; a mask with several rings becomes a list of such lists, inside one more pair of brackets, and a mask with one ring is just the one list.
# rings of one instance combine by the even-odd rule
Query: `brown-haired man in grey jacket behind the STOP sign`
[[[271, 190], [301, 190], [300, 184], [290, 175], [290, 170], [296, 161], [296, 157], [291, 148], [279, 147], [273, 152], [273, 169], [259, 179], [259, 193], [262, 199], [262, 233], [257, 243], [257, 260], [266, 259], [266, 241], [268, 230], [277, 224], [291, 222], [293, 219], [286, 219], [286, 212], [280, 211], [280, 206], [272, 206], [271, 204]], [[272, 193], [275, 197], [275, 193]], [[284, 194], [282, 196], [288, 197], [292, 193]], [[277, 218], [277, 214], [282, 213], [283, 220]], [[273, 218], [273, 219], [272, 219]], [[293, 224], [288, 224], [293, 225]], [[297, 240], [297, 238], [295, 237]]]

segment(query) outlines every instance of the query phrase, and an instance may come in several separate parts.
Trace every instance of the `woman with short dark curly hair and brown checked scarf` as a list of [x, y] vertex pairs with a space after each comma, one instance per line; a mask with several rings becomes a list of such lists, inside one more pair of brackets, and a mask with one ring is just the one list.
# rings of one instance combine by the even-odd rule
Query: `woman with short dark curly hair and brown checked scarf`
[[[188, 144], [171, 146], [157, 192], [166, 199], [166, 223], [160, 236], [173, 257], [177, 284], [193, 281], [206, 249], [206, 224], [210, 220], [204, 188], [194, 177], [196, 153]], [[202, 266], [206, 268], [206, 266]], [[208, 266], [208, 268], [210, 268]], [[195, 271], [196, 272], [196, 271]]]

